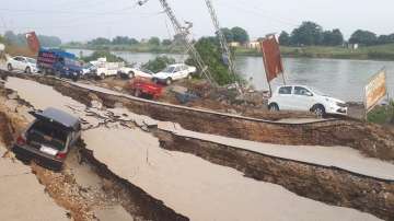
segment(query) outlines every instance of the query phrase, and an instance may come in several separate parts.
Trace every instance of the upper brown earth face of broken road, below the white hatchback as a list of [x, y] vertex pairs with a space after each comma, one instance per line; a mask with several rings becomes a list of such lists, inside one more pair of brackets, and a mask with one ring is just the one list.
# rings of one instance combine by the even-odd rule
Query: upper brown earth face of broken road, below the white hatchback
[[393, 131], [361, 121], [346, 119], [269, 121], [141, 100], [56, 78], [26, 77], [11, 72], [2, 74], [27, 78], [54, 86], [60, 93], [85, 105], [90, 104], [90, 97], [94, 94], [107, 107], [121, 104], [132, 113], [147, 115], [157, 120], [178, 123], [183, 128], [193, 131], [277, 144], [346, 146], [360, 150], [368, 156], [394, 160]]

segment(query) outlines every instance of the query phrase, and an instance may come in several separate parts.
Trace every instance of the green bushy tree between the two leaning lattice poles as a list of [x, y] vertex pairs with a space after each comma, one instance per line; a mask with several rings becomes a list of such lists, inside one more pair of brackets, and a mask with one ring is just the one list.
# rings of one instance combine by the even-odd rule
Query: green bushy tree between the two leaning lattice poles
[[[195, 47], [218, 84], [225, 85], [234, 83], [234, 80], [242, 80], [239, 75], [234, 79], [229, 72], [228, 67], [223, 63], [222, 51], [217, 37], [202, 37], [196, 43]], [[198, 67], [192, 58], [188, 58], [186, 63]]]

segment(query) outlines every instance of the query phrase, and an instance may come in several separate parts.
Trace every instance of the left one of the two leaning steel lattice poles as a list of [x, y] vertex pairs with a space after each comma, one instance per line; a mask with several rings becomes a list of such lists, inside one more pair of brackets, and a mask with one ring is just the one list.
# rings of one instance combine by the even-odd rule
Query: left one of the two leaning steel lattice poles
[[[143, 5], [149, 0], [141, 0], [138, 1], [139, 5]], [[185, 22], [187, 26], [183, 26], [181, 22], [176, 19], [174, 11], [170, 7], [169, 2], [166, 0], [159, 0], [161, 5], [164, 9], [164, 12], [169, 16], [171, 23], [173, 24], [173, 27], [175, 30], [175, 33], [182, 37], [182, 40], [187, 49], [187, 53], [193, 57], [195, 62], [197, 63], [198, 68], [201, 70], [201, 73], [204, 77], [208, 80], [210, 84], [215, 84], [216, 82], [212, 78], [212, 74], [208, 70], [208, 67], [205, 65], [201, 56], [198, 54], [197, 49], [192, 44], [192, 40], [189, 39], [189, 30], [193, 27], [193, 24], [189, 22]]]

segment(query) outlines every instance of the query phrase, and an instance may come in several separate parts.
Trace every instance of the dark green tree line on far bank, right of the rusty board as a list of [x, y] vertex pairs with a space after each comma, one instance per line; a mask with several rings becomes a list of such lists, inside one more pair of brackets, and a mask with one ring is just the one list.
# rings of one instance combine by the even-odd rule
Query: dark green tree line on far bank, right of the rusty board
[[345, 43], [371, 46], [394, 43], [394, 34], [378, 36], [370, 31], [357, 30], [346, 42], [339, 28], [325, 31], [314, 22], [303, 22], [291, 34], [281, 32], [279, 42], [283, 46], [340, 46]]

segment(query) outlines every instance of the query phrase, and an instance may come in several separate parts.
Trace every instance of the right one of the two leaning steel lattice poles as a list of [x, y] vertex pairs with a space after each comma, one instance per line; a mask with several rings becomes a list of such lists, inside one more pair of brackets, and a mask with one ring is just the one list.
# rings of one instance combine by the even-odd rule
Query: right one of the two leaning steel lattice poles
[[216, 10], [213, 8], [212, 1], [211, 0], [205, 0], [205, 1], [206, 1], [206, 4], [207, 4], [209, 14], [210, 14], [210, 16], [212, 19], [213, 26], [215, 26], [215, 30], [216, 30], [216, 34], [217, 34], [217, 36], [219, 38], [220, 47], [222, 48], [223, 57], [228, 61], [229, 71], [233, 75], [234, 81], [236, 82], [237, 79], [236, 79], [236, 74], [235, 74], [236, 69], [235, 69], [234, 59], [233, 59], [233, 56], [232, 56], [231, 50], [229, 48], [228, 40], [225, 39], [225, 36], [224, 36], [224, 34], [223, 34], [223, 32], [221, 30], [219, 19], [218, 19], [218, 15], [216, 13]]

